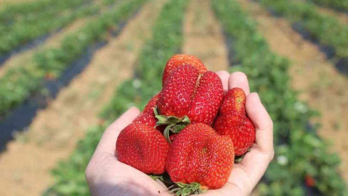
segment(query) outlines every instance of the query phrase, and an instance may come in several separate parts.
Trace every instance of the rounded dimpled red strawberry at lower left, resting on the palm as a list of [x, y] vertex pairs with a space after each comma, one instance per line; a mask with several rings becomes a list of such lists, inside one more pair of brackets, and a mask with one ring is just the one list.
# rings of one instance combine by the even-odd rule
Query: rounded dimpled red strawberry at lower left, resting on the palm
[[155, 128], [130, 124], [116, 141], [116, 157], [122, 163], [147, 174], [164, 172], [169, 143]]

